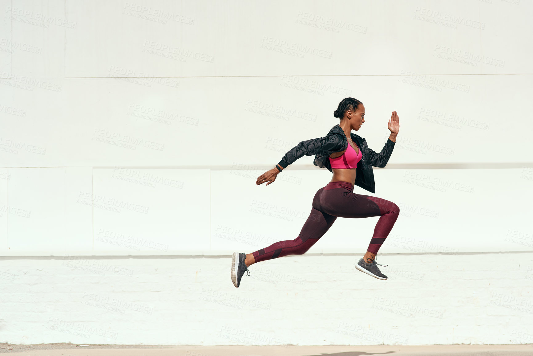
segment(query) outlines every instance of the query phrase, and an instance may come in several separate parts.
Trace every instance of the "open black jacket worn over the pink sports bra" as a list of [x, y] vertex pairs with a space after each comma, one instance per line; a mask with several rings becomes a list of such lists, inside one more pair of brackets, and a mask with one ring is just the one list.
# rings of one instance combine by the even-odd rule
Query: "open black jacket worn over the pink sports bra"
[[[362, 157], [357, 163], [356, 167], [356, 181], [354, 185], [357, 185], [370, 193], [376, 192], [374, 184], [374, 167], [385, 167], [394, 148], [394, 142], [387, 139], [385, 146], [381, 152], [376, 153], [372, 149], [368, 148], [366, 140], [361, 136], [350, 132], [351, 138], [357, 147], [361, 149]], [[329, 130], [325, 137], [313, 138], [310, 140], [301, 141], [296, 146], [290, 149], [289, 152], [283, 156], [279, 165], [284, 169], [294, 163], [297, 159], [305, 156], [314, 156], [313, 164], [319, 168], [326, 167], [330, 172], [332, 171], [331, 164], [329, 163], [328, 156], [334, 152], [341, 152], [348, 148], [348, 139], [339, 124], [336, 124]]]

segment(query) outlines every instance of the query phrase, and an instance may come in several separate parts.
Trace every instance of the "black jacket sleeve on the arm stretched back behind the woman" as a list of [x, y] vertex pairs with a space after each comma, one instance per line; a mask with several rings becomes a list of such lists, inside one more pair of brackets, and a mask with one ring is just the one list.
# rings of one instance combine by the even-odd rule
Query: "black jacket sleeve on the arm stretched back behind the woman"
[[286, 168], [304, 155], [312, 156], [314, 154], [342, 151], [342, 143], [343, 136], [338, 132], [329, 132], [325, 137], [301, 141], [291, 148], [278, 164]]

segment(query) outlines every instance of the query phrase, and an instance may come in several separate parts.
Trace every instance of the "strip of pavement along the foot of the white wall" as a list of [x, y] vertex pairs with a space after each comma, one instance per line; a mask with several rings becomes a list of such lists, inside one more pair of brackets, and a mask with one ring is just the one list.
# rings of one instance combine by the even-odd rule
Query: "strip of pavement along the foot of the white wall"
[[533, 356], [527, 345], [431, 346], [158, 346], [84, 344], [0, 344], [0, 353], [27, 356]]

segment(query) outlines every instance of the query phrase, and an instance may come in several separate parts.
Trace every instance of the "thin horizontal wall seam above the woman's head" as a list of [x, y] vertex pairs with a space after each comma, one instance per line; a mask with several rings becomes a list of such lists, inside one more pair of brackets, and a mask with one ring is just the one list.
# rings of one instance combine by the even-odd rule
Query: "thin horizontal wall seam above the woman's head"
[[532, 75], [533, 73], [478, 73], [478, 74], [279, 74], [279, 75], [198, 75], [160, 77], [64, 77], [65, 79], [114, 79], [114, 78], [275, 78], [275, 77], [400, 77], [409, 75]]

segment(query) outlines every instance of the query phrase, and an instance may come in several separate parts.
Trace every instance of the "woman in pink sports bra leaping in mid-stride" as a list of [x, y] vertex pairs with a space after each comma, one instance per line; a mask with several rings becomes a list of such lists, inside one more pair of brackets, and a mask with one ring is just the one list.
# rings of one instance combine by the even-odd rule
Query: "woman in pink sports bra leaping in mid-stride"
[[[366, 218], [379, 216], [374, 235], [366, 254], [359, 259], [356, 268], [377, 279], [386, 280], [387, 276], [379, 271], [375, 261], [377, 251], [392, 230], [398, 214], [398, 205], [375, 196], [353, 193], [353, 186], [358, 185], [375, 193], [372, 166], [385, 167], [392, 153], [396, 136], [400, 129], [398, 114], [393, 111], [389, 120], [391, 135], [382, 151], [376, 153], [368, 148], [366, 140], [354, 133], [365, 122], [365, 106], [357, 99], [345, 98], [333, 113], [340, 118], [340, 123], [321, 138], [301, 141], [290, 149], [273, 169], [266, 171], [256, 180], [256, 185], [269, 185], [289, 164], [306, 155], [316, 155], [314, 165], [326, 167], [333, 172], [330, 182], [314, 195], [311, 214], [305, 221], [300, 235], [294, 240], [279, 241], [261, 250], [244, 254], [234, 252], [231, 259], [231, 280], [239, 287], [240, 280], [248, 266], [287, 255], [302, 255], [318, 241], [333, 225], [337, 217]], [[379, 265], [386, 266], [386, 265]]]

